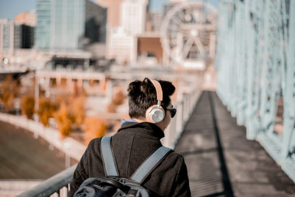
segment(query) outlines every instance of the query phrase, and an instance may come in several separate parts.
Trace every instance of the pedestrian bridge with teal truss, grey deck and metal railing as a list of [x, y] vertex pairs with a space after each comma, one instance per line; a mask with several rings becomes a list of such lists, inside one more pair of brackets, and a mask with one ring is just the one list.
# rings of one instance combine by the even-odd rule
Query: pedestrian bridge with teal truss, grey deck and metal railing
[[[177, 104], [163, 144], [184, 155], [192, 196], [294, 196], [295, 1], [218, 13], [216, 93]], [[66, 195], [75, 167], [19, 196]]]

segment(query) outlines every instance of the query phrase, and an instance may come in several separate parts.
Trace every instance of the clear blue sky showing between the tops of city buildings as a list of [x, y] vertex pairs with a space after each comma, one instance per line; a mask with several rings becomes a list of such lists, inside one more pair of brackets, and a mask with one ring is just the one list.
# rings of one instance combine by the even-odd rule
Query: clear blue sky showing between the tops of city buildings
[[[94, 1], [94, 0], [92, 0]], [[204, 0], [217, 7], [218, 0]], [[163, 12], [169, 0], [150, 0], [150, 9]], [[0, 0], [0, 19], [14, 19], [14, 16], [35, 9], [35, 0]]]

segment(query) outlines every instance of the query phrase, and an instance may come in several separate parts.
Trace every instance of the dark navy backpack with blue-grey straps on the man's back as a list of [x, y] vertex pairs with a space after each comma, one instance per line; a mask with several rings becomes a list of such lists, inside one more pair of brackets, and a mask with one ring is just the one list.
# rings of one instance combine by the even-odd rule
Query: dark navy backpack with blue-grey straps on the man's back
[[130, 179], [121, 178], [115, 162], [111, 139], [111, 136], [104, 136], [101, 138], [101, 157], [106, 176], [102, 178], [87, 178], [80, 185], [74, 197], [151, 196], [150, 191], [143, 187], [141, 183], [172, 150], [164, 146], [159, 147], [142, 162]]

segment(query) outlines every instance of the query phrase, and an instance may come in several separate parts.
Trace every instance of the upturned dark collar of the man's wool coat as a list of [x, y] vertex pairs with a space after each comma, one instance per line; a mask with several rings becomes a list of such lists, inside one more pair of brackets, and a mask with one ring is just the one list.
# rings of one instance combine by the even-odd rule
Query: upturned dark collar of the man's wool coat
[[124, 122], [118, 132], [138, 134], [143, 137], [161, 139], [165, 137], [164, 132], [157, 125], [150, 122]]

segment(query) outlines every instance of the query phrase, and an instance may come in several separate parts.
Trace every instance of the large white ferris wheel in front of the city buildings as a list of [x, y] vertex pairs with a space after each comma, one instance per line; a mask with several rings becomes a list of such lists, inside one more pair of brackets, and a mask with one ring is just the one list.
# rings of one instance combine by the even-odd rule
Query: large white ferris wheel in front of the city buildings
[[169, 59], [185, 64], [210, 58], [216, 20], [216, 9], [203, 1], [173, 6], [165, 15], [160, 29], [162, 47]]

